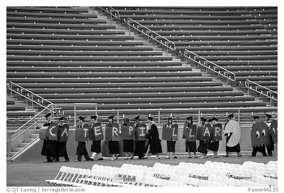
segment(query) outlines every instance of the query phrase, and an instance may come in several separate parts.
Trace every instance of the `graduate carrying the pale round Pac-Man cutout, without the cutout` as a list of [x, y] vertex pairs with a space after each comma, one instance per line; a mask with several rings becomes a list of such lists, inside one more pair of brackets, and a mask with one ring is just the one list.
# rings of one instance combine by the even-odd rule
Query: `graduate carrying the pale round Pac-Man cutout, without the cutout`
[[[228, 118], [229, 118], [229, 121], [230, 121], [230, 120], [235, 120], [235, 115], [234, 115], [234, 113], [229, 114]], [[229, 121], [228, 121], [228, 122], [229, 122]], [[234, 136], [241, 135], [241, 134], [238, 133], [237, 131], [235, 131], [235, 133], [232, 132], [232, 131], [229, 131], [229, 133], [227, 133], [227, 132], [226, 132], [226, 125], [228, 124], [228, 122], [225, 123], [224, 136], [226, 137], [226, 155], [223, 156], [223, 157], [229, 157], [229, 152], [237, 152], [238, 157], [242, 157], [241, 148], [240, 148], [240, 142], [239, 142], [237, 145], [233, 146], [233, 147], [229, 147], [229, 146], [227, 145], [228, 141], [230, 140], [230, 138], [231, 138], [233, 135], [234, 135]]]

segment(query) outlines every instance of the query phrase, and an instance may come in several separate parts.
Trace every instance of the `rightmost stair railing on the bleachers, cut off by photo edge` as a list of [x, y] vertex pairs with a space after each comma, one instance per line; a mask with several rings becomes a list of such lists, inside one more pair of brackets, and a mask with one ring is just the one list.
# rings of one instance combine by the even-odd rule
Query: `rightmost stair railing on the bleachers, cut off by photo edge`
[[[259, 86], [261, 88], [264, 88], [266, 90], [267, 94], [263, 93], [262, 91], [257, 90], [256, 86], [255, 86], [255, 88], [252, 88], [252, 85], [256, 85], [256, 86]], [[250, 90], [253, 90], [253, 91], [255, 91], [255, 92], [257, 92], [259, 94], [260, 99], [261, 99], [261, 95], [264, 95], [264, 96], [268, 97], [269, 101], [270, 101], [270, 105], [273, 104], [273, 102], [272, 102], [273, 100], [278, 102], [278, 99], [275, 99], [274, 96], [272, 95], [272, 93], [278, 95], [278, 92], [276, 92], [274, 90], [271, 90], [271, 89], [269, 89], [269, 88], [267, 88], [265, 86], [262, 86], [262, 85], [260, 85], [258, 83], [252, 82], [252, 81], [250, 81], [248, 79], [245, 82], [245, 86], [248, 88], [248, 95], [250, 94]]]

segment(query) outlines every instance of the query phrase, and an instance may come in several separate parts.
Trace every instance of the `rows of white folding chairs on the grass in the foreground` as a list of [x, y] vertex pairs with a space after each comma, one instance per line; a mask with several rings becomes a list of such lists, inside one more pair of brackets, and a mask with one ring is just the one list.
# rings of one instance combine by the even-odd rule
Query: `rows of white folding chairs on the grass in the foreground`
[[243, 165], [206, 162], [178, 165], [93, 165], [91, 169], [62, 166], [50, 186], [277, 186], [277, 161]]

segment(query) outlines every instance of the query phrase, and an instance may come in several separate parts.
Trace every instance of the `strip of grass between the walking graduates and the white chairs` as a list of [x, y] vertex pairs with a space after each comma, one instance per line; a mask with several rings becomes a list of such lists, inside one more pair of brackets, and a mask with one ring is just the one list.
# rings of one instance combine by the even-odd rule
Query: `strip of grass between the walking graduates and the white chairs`
[[[22, 186], [48, 186], [45, 182], [46, 179], [54, 179], [61, 166], [70, 166], [78, 168], [92, 168], [93, 165], [108, 165], [120, 167], [123, 164], [133, 164], [133, 165], [147, 165], [153, 166], [156, 162], [161, 164], [178, 165], [180, 162], [191, 162], [197, 164], [204, 164], [206, 161], [211, 162], [224, 162], [230, 164], [243, 164], [246, 161], [258, 162], [267, 164], [269, 161], [277, 161], [278, 156], [274, 154], [273, 157], [262, 157], [259, 153], [256, 157], [249, 157], [250, 153], [244, 154], [238, 158], [236, 154], [230, 155], [229, 158], [223, 158], [223, 154], [219, 154], [219, 158], [212, 158], [209, 154], [207, 159], [186, 159], [187, 155], [178, 155], [178, 159], [164, 159], [165, 156], [161, 156], [160, 160], [155, 160], [156, 156], [151, 156], [147, 160], [138, 160], [135, 157], [133, 160], [124, 160], [123, 157], [119, 157], [116, 161], [109, 161], [106, 158], [103, 161], [82, 161], [74, 162], [21, 162], [21, 163], [7, 163], [6, 164], [6, 186], [7, 187], [22, 187]], [[200, 156], [199, 156], [200, 157]], [[64, 160], [64, 159], [62, 159]]]

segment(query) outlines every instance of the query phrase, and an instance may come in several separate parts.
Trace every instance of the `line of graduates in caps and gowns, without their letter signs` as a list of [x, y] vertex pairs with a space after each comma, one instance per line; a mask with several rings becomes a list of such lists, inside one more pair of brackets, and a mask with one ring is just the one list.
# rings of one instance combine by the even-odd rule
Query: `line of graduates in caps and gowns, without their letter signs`
[[[48, 113], [45, 115], [47, 122], [43, 125], [43, 126], [49, 126], [52, 121], [51, 121], [51, 114]], [[112, 124], [114, 124], [114, 120], [113, 120], [114, 116], [109, 116], [108, 117], [108, 123], [106, 124], [106, 127], [111, 127]], [[190, 125], [193, 124], [192, 121], [193, 116], [189, 116], [187, 117], [184, 127], [189, 128]], [[254, 116], [253, 119], [256, 121], [258, 121], [259, 116]], [[266, 114], [266, 123], [269, 126], [271, 115]], [[78, 128], [83, 128], [84, 126], [84, 119], [85, 117], [80, 116], [79, 117], [79, 124], [78, 124]], [[235, 116], [234, 113], [230, 114], [227, 117], [227, 123], [230, 120], [234, 120]], [[139, 125], [141, 124], [140, 121], [140, 116], [137, 116], [134, 118], [135, 120], [135, 124], [134, 127], [138, 128]], [[205, 118], [201, 118], [201, 127], [204, 127], [204, 125], [206, 124], [206, 122], [208, 122], [209, 124], [211, 124], [211, 126], [215, 126], [217, 123], [217, 118], [213, 117], [212, 119], [205, 119]], [[60, 117], [59, 118], [59, 123], [58, 123], [58, 127], [62, 127], [62, 125], [64, 124], [64, 117]], [[148, 159], [148, 155], [149, 153], [151, 154], [156, 154], [156, 159], [160, 159], [159, 153], [162, 153], [162, 146], [161, 146], [161, 140], [159, 138], [159, 132], [157, 129], [157, 125], [156, 123], [153, 121], [152, 117], [148, 117], [147, 118], [148, 121], [148, 130], [147, 130], [147, 134], [145, 134], [145, 138], [147, 138], [147, 143], [145, 144], [145, 140], [139, 140], [138, 134], [136, 133], [135, 130], [135, 138], [134, 139], [123, 139], [123, 152], [125, 153], [125, 160], [129, 159], [129, 155], [130, 155], [130, 159], [133, 159], [135, 155], [138, 156], [138, 159]], [[94, 124], [97, 123], [97, 116], [91, 116], [91, 128], [93, 128]], [[238, 142], [236, 145], [234, 146], [228, 146], [227, 143], [229, 141], [230, 138], [234, 138], [236, 135], [240, 135], [239, 134], [234, 134], [234, 132], [226, 132], [226, 124], [225, 123], [225, 132], [224, 135], [226, 137], [226, 154], [223, 157], [229, 157], [229, 152], [237, 152], [238, 157], [242, 157], [241, 155], [241, 150], [240, 150], [240, 143]], [[124, 118], [123, 120], [123, 125], [122, 126], [129, 126], [130, 124], [130, 119], [129, 118]], [[165, 127], [171, 128], [173, 127], [173, 118], [169, 117], [168, 118], [168, 122], [165, 125]], [[232, 137], [233, 136], [233, 137]], [[219, 140], [214, 140], [214, 141], [207, 141], [207, 140], [200, 140], [199, 141], [199, 146], [197, 148], [196, 146], [196, 141], [187, 141], [185, 140], [185, 150], [186, 152], [188, 152], [188, 157], [187, 158], [192, 158], [191, 157], [191, 152], [194, 154], [193, 158], [198, 158], [196, 156], [196, 152], [200, 152], [202, 153], [202, 157], [201, 158], [208, 158], [208, 150], [213, 151], [213, 158], [218, 158], [218, 148], [219, 148]], [[272, 156], [272, 150], [274, 150], [274, 146], [266, 146], [267, 151], [268, 151], [268, 156]], [[175, 149], [176, 149], [176, 141], [175, 140], [167, 140], [167, 156], [165, 157], [165, 159], [169, 159], [171, 154], [173, 154], [173, 158], [177, 158], [177, 155], [175, 153]], [[117, 160], [119, 157], [119, 145], [118, 145], [118, 141], [117, 140], [108, 140], [108, 150], [109, 150], [109, 154], [112, 154], [112, 157], [110, 159], [110, 161], [114, 161]], [[266, 156], [265, 153], [265, 146], [262, 147], [253, 147], [253, 151], [252, 151], [252, 157], [254, 157], [256, 155], [256, 152], [260, 151], [263, 153], [263, 156]], [[93, 140], [92, 141], [92, 145], [91, 145], [91, 152], [92, 152], [92, 156], [89, 157], [87, 149], [86, 149], [86, 141], [78, 141], [78, 146], [77, 146], [77, 151], [76, 151], [76, 155], [77, 155], [77, 160], [80, 162], [82, 159], [82, 156], [85, 157], [86, 161], [94, 161], [96, 155], [98, 155], [98, 159], [97, 160], [104, 160], [103, 156], [102, 156], [102, 152], [101, 152], [101, 140]], [[42, 146], [42, 151], [41, 151], [41, 155], [46, 156], [47, 162], [58, 162], [59, 161], [59, 157], [64, 157], [66, 162], [69, 162], [70, 159], [68, 158], [68, 154], [66, 151], [66, 142], [59, 142], [59, 141], [55, 141], [55, 140], [49, 140], [48, 138], [46, 140], [44, 140], [43, 142], [43, 146]]]

